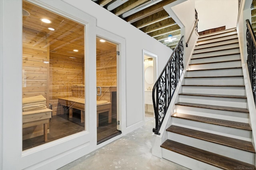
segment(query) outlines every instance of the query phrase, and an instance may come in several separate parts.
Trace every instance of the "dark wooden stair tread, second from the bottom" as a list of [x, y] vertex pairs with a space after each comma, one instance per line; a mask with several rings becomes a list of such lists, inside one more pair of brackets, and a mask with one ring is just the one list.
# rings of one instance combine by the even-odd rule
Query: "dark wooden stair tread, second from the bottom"
[[235, 138], [226, 137], [222, 135], [216, 135], [213, 133], [207, 133], [207, 132], [198, 131], [194, 129], [188, 129], [185, 127], [179, 127], [175, 125], [171, 125], [166, 129], [166, 131], [255, 153], [255, 149], [252, 145], [252, 142], [244, 141], [241, 139], [235, 139]]

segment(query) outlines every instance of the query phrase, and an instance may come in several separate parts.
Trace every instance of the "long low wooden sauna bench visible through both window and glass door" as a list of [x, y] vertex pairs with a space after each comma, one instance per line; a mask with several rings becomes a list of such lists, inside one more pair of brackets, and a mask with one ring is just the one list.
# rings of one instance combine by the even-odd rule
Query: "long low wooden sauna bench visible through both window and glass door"
[[[67, 97], [59, 98], [59, 104], [61, 105], [61, 114], [64, 114], [63, 106], [69, 107], [69, 118], [73, 117], [73, 108], [81, 110], [81, 123], [84, 122], [84, 102], [82, 98]], [[99, 113], [108, 112], [108, 123], [112, 122], [112, 105], [106, 100], [97, 101], [97, 127], [99, 126]]]

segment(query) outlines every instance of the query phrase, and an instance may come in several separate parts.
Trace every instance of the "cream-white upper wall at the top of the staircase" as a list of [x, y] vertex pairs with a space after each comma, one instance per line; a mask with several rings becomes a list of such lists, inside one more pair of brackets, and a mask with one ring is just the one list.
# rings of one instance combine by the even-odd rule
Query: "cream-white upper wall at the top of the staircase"
[[198, 32], [222, 27], [236, 27], [238, 0], [195, 0], [198, 12]]

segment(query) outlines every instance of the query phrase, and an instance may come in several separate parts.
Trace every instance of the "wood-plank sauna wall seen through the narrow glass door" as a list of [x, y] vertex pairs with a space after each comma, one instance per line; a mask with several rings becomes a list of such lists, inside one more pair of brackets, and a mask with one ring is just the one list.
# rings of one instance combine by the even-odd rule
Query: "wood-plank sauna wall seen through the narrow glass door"
[[116, 86], [116, 48], [97, 54], [97, 86]]

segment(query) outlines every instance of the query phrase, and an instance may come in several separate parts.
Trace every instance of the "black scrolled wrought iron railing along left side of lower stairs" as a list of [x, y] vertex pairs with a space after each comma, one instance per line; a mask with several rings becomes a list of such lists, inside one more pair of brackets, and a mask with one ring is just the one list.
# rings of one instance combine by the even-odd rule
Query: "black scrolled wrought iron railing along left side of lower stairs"
[[156, 119], [156, 128], [153, 132], [160, 135], [159, 130], [172, 100], [172, 96], [180, 80], [183, 66], [183, 39], [172, 52], [170, 59], [165, 65], [152, 90], [153, 106]]

